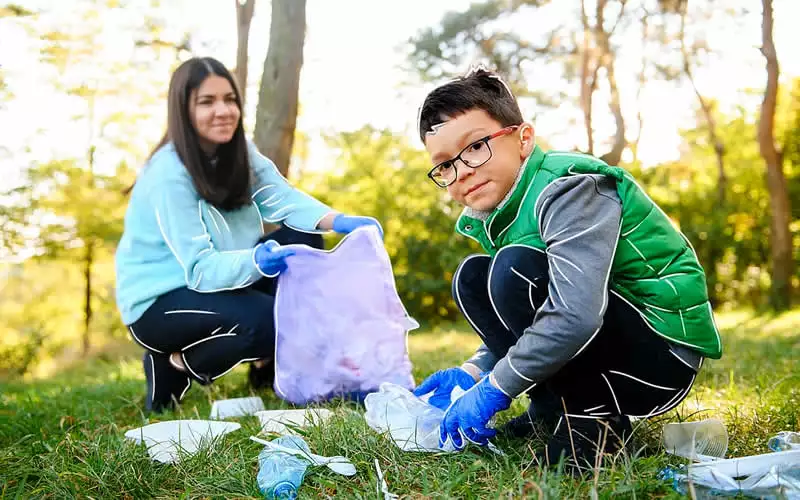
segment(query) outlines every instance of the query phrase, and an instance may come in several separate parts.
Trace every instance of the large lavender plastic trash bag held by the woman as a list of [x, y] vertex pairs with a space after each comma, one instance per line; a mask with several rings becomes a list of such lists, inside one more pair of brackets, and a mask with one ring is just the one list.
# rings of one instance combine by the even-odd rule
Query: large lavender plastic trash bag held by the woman
[[293, 404], [367, 394], [382, 382], [411, 389], [406, 312], [377, 228], [359, 228], [331, 251], [296, 254], [275, 296], [275, 393]]

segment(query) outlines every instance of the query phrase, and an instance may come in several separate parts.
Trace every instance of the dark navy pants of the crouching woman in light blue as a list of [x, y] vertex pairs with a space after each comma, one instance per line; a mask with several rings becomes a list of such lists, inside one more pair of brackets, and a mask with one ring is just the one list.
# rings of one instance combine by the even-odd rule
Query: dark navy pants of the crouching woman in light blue
[[[265, 236], [281, 245], [322, 248], [322, 236], [287, 227]], [[135, 323], [133, 339], [146, 349], [155, 407], [180, 401], [191, 381], [209, 384], [243, 362], [272, 359], [275, 350], [273, 304], [277, 280], [262, 278], [237, 290], [200, 293], [178, 288], [160, 296]], [[169, 363], [179, 352], [186, 372]]]

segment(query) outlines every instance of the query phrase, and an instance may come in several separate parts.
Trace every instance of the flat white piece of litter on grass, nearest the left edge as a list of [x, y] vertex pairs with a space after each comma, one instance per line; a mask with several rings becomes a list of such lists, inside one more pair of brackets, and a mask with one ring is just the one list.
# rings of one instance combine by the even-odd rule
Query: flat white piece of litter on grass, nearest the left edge
[[240, 427], [236, 422], [170, 420], [131, 429], [125, 437], [144, 443], [150, 458], [166, 464], [177, 462], [182, 455], [192, 455]]

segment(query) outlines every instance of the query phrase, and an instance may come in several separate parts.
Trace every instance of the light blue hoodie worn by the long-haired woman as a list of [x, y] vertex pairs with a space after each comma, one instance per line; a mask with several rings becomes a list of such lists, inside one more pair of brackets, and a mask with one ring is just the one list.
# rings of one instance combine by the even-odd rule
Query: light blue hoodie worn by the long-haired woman
[[252, 285], [262, 277], [253, 258], [262, 220], [324, 232], [317, 223], [333, 210], [290, 186], [252, 143], [248, 148], [252, 202], [236, 210], [200, 198], [172, 144], [142, 169], [116, 253], [117, 307], [126, 325], [177, 288], [212, 293]]

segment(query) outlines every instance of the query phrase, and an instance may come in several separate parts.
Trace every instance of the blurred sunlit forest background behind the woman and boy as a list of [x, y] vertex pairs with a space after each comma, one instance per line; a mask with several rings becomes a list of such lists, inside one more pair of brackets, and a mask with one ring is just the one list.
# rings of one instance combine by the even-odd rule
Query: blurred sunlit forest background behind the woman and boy
[[[409, 18], [427, 11], [404, 21], [410, 31], [391, 53], [397, 103], [367, 102], [365, 87], [352, 106], [380, 119], [355, 125], [329, 111], [342, 108], [309, 103], [374, 85], [355, 68], [378, 71], [384, 56], [370, 40], [391, 13], [351, 1], [211, 3], [0, 2], [0, 376], [46, 373], [127, 341], [114, 301], [122, 193], [163, 132], [170, 72], [191, 55], [236, 68], [248, 134], [291, 182], [381, 221], [400, 295], [424, 323], [458, 319], [450, 279], [476, 248], [453, 231], [458, 207], [425, 177], [417, 107], [476, 63], [507, 78], [542, 147], [637, 176], [694, 245], [717, 311], [797, 302], [796, 0], [480, 0], [433, 11], [374, 2]], [[182, 22], [183, 9], [204, 8], [205, 31]], [[213, 19], [221, 9], [224, 26]], [[312, 18], [335, 26], [315, 31]], [[312, 38], [319, 46], [320, 32], [337, 30], [355, 50], [304, 58]], [[315, 70], [320, 57], [341, 71]], [[312, 112], [324, 127], [304, 127]], [[673, 115], [688, 118], [666, 130]]]

